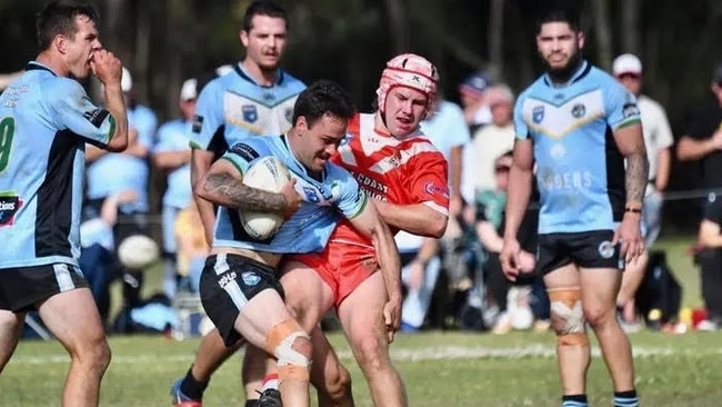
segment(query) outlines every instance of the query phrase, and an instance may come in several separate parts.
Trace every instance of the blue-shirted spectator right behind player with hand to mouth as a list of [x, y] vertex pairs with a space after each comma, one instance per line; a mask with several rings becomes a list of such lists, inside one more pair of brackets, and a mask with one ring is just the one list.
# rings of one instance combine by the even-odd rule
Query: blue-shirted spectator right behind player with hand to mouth
[[[109, 152], [90, 143], [86, 146], [88, 205], [100, 210], [107, 197], [136, 191], [136, 200], [118, 207], [119, 218], [113, 227], [116, 247], [129, 236], [148, 234], [148, 153], [157, 127], [156, 113], [138, 102], [133, 79], [124, 67], [121, 90], [128, 107], [128, 148], [123, 152]], [[133, 307], [132, 302], [140, 298], [142, 271], [124, 269], [121, 274], [123, 307]]]

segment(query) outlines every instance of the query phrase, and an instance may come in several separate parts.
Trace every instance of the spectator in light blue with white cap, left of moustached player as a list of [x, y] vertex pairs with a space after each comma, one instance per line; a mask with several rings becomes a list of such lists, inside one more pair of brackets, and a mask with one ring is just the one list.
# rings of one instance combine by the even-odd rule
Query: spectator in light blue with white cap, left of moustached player
[[[191, 200], [191, 128], [198, 97], [197, 80], [188, 79], [180, 91], [181, 117], [163, 123], [158, 129], [158, 143], [153, 148], [156, 167], [167, 175], [163, 193], [163, 292], [169, 299], [176, 296], [178, 264], [176, 262], [176, 219]], [[202, 225], [201, 225], [202, 229]]]

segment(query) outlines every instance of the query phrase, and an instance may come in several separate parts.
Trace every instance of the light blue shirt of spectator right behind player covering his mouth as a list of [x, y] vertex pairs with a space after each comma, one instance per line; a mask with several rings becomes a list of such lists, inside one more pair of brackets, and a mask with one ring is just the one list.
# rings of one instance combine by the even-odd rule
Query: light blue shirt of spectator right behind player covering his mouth
[[[149, 151], [153, 146], [153, 135], [158, 119], [150, 108], [137, 105], [128, 109], [128, 131], [138, 131], [138, 142]], [[129, 140], [129, 143], [132, 141]], [[133, 202], [120, 206], [123, 214], [148, 211], [149, 168], [146, 158], [122, 152], [109, 152], [88, 166], [88, 190], [90, 199], [106, 198], [110, 195], [132, 189], [138, 193]]]

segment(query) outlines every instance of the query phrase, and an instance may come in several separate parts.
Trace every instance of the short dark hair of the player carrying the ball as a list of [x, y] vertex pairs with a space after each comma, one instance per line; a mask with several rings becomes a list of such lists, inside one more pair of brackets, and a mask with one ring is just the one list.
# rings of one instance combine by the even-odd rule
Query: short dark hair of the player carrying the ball
[[340, 85], [322, 79], [299, 95], [293, 106], [293, 126], [303, 116], [309, 127], [312, 127], [325, 115], [350, 120], [355, 115], [355, 107]]

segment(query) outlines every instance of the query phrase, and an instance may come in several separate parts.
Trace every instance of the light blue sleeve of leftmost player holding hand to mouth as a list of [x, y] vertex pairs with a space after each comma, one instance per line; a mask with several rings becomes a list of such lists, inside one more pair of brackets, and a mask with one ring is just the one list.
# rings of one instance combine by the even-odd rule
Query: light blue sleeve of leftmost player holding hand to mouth
[[47, 82], [43, 100], [49, 113], [60, 125], [91, 143], [107, 146], [116, 132], [116, 118], [92, 103], [86, 90], [72, 79]]

